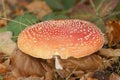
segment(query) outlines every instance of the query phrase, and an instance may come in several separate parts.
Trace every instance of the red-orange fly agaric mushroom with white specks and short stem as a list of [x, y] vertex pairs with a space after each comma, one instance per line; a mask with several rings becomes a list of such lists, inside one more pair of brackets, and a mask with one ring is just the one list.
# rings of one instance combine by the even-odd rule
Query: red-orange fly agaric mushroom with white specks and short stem
[[103, 43], [99, 28], [78, 19], [44, 21], [27, 27], [18, 37], [18, 47], [24, 53], [43, 59], [55, 56], [56, 69], [63, 69], [56, 56], [62, 59], [88, 56]]

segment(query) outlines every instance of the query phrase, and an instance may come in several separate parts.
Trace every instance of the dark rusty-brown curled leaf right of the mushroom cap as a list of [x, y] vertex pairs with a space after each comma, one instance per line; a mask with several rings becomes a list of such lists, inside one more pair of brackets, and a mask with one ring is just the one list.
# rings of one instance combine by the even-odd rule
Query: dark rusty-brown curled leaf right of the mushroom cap
[[108, 20], [106, 22], [106, 35], [109, 47], [117, 45], [120, 42], [120, 21]]

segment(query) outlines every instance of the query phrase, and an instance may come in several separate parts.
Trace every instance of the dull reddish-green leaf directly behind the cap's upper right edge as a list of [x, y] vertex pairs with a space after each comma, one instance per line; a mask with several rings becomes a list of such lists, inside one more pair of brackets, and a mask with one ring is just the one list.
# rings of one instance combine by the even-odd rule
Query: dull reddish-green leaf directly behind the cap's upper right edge
[[95, 12], [88, 5], [79, 2], [71, 10], [70, 17], [84, 20], [92, 20], [93, 18], [95, 18]]

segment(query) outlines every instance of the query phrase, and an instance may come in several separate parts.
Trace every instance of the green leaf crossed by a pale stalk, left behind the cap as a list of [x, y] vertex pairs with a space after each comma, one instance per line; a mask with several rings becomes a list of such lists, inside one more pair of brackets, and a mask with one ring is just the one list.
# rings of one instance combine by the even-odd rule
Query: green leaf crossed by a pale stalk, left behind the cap
[[[7, 30], [13, 33], [13, 36], [18, 36], [18, 34], [27, 26], [36, 23], [38, 19], [36, 16], [26, 13], [24, 15], [16, 17], [14, 20], [8, 23]], [[17, 37], [13, 38], [14, 41], [17, 40]]]

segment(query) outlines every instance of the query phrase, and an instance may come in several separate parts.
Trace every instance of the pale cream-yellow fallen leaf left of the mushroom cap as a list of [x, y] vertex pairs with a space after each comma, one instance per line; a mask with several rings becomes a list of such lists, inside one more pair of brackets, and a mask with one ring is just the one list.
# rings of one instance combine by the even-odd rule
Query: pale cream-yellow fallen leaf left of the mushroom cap
[[6, 31], [0, 33], [0, 52], [11, 55], [16, 48], [16, 43], [11, 40], [12, 32]]

